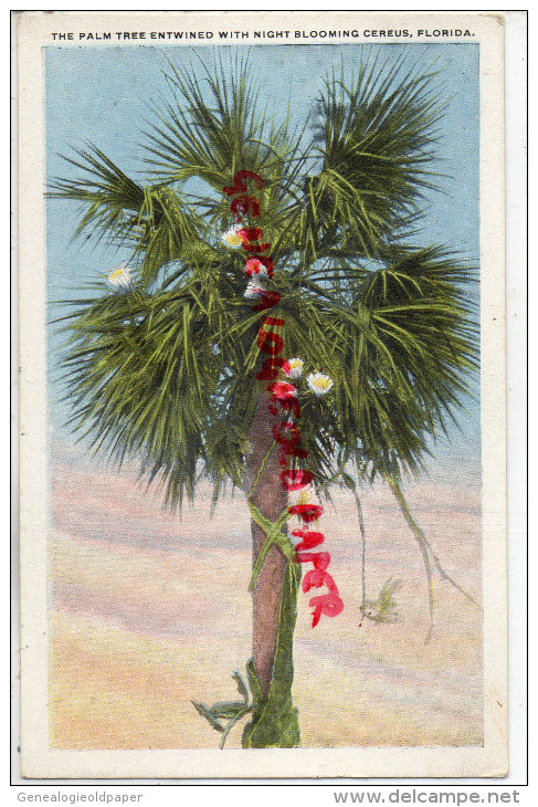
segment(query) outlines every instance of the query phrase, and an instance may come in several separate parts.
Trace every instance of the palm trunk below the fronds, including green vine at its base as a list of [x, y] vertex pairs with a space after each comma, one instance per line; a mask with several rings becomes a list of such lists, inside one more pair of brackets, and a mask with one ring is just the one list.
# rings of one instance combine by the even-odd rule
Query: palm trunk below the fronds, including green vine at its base
[[[287, 506], [281, 483], [278, 451], [265, 390], [257, 397], [250, 430], [252, 450], [246, 458], [246, 493], [265, 518], [276, 521]], [[256, 563], [265, 532], [251, 521], [252, 563]], [[296, 747], [299, 743], [297, 710], [292, 701], [293, 631], [300, 569], [272, 546], [252, 594], [252, 665], [261, 688], [252, 721], [243, 732], [243, 747]]]

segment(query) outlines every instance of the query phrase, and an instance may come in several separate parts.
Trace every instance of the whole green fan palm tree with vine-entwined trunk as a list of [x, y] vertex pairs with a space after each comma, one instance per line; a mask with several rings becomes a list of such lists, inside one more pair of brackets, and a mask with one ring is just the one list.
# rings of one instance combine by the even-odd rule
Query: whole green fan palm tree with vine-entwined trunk
[[[319, 496], [346, 485], [359, 506], [357, 482], [386, 480], [420, 544], [431, 608], [434, 568], [451, 580], [402, 492], [429, 440], [455, 417], [476, 365], [468, 266], [447, 248], [413, 245], [435, 182], [429, 165], [443, 105], [435, 74], [405, 59], [329, 74], [313, 99], [315, 125], [299, 129], [289, 115], [270, 122], [247, 62], [198, 73], [171, 66], [168, 84], [171, 101], [147, 135], [147, 184], [88, 147], [66, 158], [71, 174], [51, 190], [80, 202], [78, 233], [130, 250], [129, 265], [109, 275], [114, 291], [99, 284], [70, 302], [71, 425], [118, 463], [135, 457], [171, 509], [202, 478], [215, 502], [226, 484], [244, 490], [253, 539], [247, 684], [235, 673], [241, 700], [194, 705], [222, 744], [250, 715], [244, 747], [292, 747], [300, 558], [286, 527], [283, 467], [297, 488], [312, 478]], [[238, 221], [242, 234], [223, 240]], [[265, 292], [247, 285], [253, 256], [267, 259], [256, 264]], [[261, 333], [285, 346], [283, 358], [325, 374], [327, 394], [292, 385], [297, 373], [260, 349]], [[279, 382], [287, 400], [272, 386]], [[282, 450], [278, 429], [296, 438], [294, 451]], [[315, 534], [303, 531], [303, 548]], [[316, 568], [306, 587], [327, 584], [326, 563]], [[395, 585], [383, 589], [388, 604]]]

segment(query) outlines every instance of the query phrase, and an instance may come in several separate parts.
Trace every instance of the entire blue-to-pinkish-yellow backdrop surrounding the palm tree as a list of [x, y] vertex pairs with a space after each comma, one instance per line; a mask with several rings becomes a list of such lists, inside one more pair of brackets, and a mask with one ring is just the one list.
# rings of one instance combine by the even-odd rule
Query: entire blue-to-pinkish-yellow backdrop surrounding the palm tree
[[[287, 45], [250, 49], [253, 72], [275, 122], [287, 106], [297, 123], [313, 113], [327, 70], [350, 74], [366, 51], [382, 60], [399, 44]], [[76, 176], [60, 155], [94, 144], [140, 179], [150, 105], [167, 99], [163, 71], [212, 64], [214, 48], [46, 48], [48, 180]], [[230, 48], [220, 48], [224, 60]], [[233, 49], [236, 50], [236, 49]], [[409, 63], [440, 71], [447, 108], [440, 160], [442, 193], [430, 193], [418, 244], [441, 242], [478, 263], [478, 48], [411, 45]], [[193, 67], [194, 69], [194, 67]], [[48, 200], [48, 283], [55, 301], [87, 296], [85, 286], [126, 260], [125, 251], [72, 241], [76, 205]], [[215, 747], [191, 699], [229, 700], [232, 670], [250, 654], [249, 510], [241, 492], [211, 511], [207, 482], [181, 517], [163, 512], [158, 491], [96, 464], [73, 448], [59, 402], [60, 336], [50, 329], [51, 448], [51, 744], [56, 748]], [[482, 523], [479, 409], [466, 401], [462, 431], [436, 449], [429, 474], [407, 496], [446, 570], [479, 601]], [[387, 485], [361, 493], [367, 531], [366, 586], [375, 599], [401, 580], [398, 621], [362, 620], [359, 523], [355, 499], [336, 491], [323, 528], [331, 572], [346, 604], [339, 619], [310, 628], [298, 598], [294, 702], [305, 747], [442, 746], [482, 742], [482, 611], [435, 579], [430, 627], [423, 560]], [[246, 539], [245, 539], [246, 538]], [[365, 622], [365, 623], [362, 623]], [[361, 625], [360, 630], [357, 626]], [[241, 729], [229, 747], [239, 747]]]

